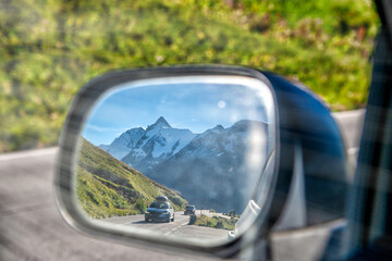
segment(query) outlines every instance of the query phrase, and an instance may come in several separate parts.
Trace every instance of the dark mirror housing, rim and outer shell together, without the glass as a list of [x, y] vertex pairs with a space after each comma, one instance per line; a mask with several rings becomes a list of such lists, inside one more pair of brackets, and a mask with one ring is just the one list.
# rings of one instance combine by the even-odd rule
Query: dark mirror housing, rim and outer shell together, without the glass
[[[179, 76], [244, 76], [261, 80], [272, 91], [277, 107], [277, 156], [268, 188], [268, 199], [252, 228], [231, 241], [198, 246], [168, 241], [143, 234], [128, 234], [99, 226], [84, 216], [74, 198], [75, 153], [87, 112], [103, 92], [113, 86], [140, 79]], [[299, 182], [295, 182], [299, 181]], [[170, 247], [233, 257], [265, 240], [274, 229], [298, 228], [339, 219], [344, 213], [346, 194], [345, 150], [339, 128], [328, 108], [303, 86], [267, 72], [236, 66], [177, 66], [123, 71], [106, 74], [88, 83], [75, 98], [60, 142], [54, 181], [59, 209], [77, 231], [121, 241]], [[295, 185], [296, 184], [296, 185]], [[294, 195], [293, 187], [304, 191]], [[298, 198], [299, 197], [299, 198]], [[302, 198], [301, 198], [302, 197]], [[296, 211], [289, 201], [297, 198]], [[287, 209], [289, 208], [289, 209]], [[289, 217], [287, 217], [289, 216]]]

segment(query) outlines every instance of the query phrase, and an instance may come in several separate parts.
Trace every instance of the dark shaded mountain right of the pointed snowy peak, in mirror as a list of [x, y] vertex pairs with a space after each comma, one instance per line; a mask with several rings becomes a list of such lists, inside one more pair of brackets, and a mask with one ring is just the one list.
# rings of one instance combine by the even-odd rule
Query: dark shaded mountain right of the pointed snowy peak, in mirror
[[[146, 174], [199, 208], [242, 211], [253, 192], [247, 183], [255, 178], [255, 184], [260, 173], [249, 173], [247, 165], [252, 135], [267, 137], [267, 124], [244, 120], [229, 128], [218, 125]], [[265, 156], [258, 160], [261, 171]]]

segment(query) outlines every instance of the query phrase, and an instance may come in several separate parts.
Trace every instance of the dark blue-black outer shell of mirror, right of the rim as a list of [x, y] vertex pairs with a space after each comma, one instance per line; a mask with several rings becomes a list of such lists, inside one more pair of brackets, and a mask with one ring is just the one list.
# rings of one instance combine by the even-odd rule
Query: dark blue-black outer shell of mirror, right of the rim
[[291, 197], [296, 146], [302, 148], [304, 165], [303, 226], [344, 217], [350, 169], [342, 134], [328, 105], [301, 83], [270, 72], [262, 74], [273, 87], [279, 108], [280, 162], [274, 203], [269, 213], [271, 223], [282, 215]]

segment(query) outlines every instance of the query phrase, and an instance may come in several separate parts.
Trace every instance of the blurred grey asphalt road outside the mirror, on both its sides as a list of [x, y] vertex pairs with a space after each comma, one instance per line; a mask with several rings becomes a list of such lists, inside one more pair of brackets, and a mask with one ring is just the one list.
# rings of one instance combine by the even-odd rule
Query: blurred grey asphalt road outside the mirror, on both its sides
[[[335, 119], [355, 158], [364, 112], [348, 114]], [[123, 246], [73, 231], [52, 196], [56, 152], [50, 148], [0, 156], [0, 260], [211, 260]]]

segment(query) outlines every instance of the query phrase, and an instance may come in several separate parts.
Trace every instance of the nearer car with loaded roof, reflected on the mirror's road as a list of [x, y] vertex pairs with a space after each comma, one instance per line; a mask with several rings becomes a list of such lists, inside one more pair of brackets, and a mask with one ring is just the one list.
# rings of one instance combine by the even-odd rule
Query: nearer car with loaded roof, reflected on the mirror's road
[[174, 209], [168, 201], [154, 201], [145, 213], [145, 221], [174, 221]]

